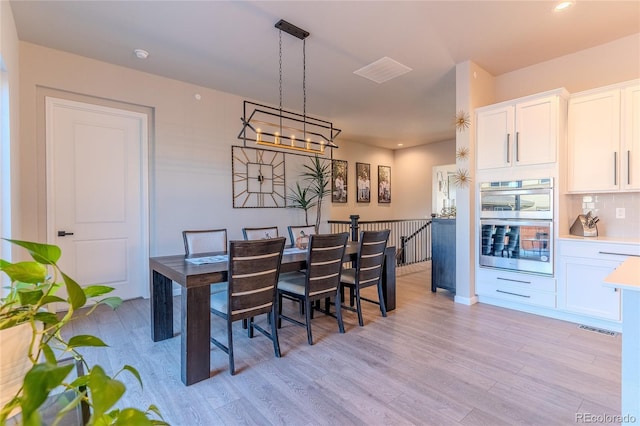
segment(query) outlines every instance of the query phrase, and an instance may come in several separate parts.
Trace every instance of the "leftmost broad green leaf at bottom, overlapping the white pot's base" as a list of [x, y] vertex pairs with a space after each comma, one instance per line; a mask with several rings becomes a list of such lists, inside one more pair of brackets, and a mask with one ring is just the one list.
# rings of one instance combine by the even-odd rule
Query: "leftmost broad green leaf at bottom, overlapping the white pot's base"
[[35, 364], [27, 372], [23, 381], [22, 413], [30, 418], [49, 396], [69, 375], [73, 364], [58, 366], [56, 364]]

